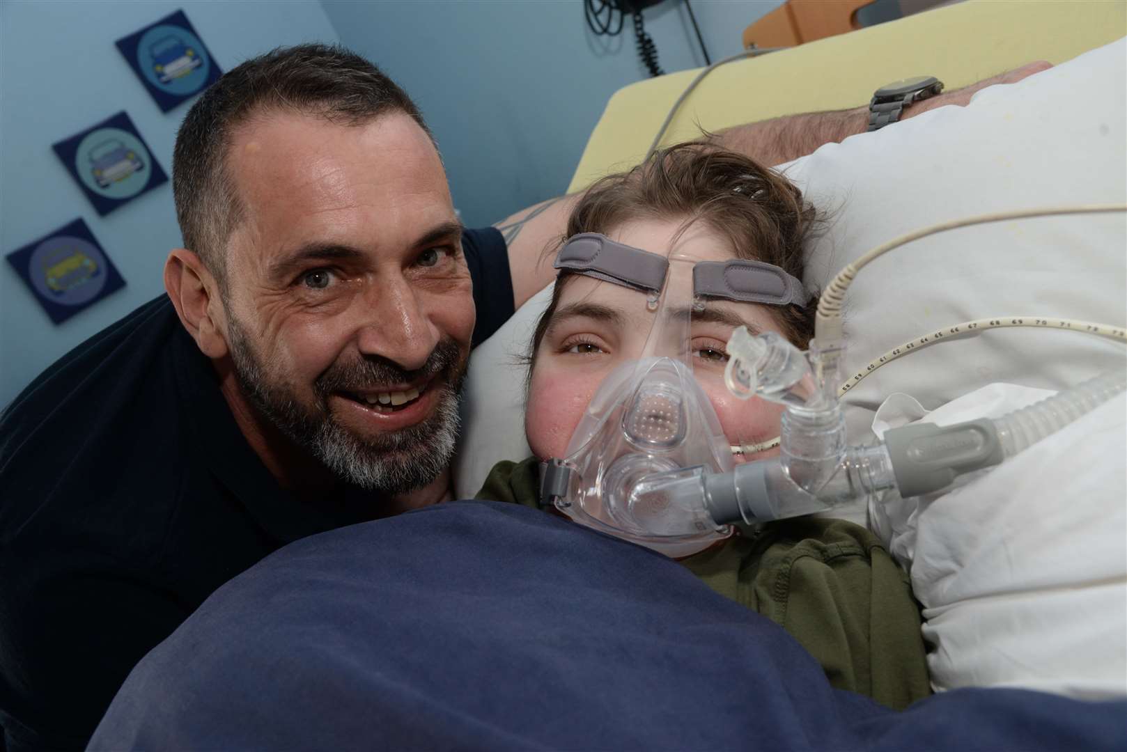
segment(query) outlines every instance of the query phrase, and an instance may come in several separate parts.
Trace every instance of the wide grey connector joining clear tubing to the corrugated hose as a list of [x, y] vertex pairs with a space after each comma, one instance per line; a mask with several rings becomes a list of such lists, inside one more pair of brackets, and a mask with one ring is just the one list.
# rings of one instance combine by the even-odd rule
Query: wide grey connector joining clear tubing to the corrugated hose
[[930, 423], [885, 432], [900, 496], [947, 488], [957, 476], [999, 465], [1005, 455], [990, 418], [949, 426]]

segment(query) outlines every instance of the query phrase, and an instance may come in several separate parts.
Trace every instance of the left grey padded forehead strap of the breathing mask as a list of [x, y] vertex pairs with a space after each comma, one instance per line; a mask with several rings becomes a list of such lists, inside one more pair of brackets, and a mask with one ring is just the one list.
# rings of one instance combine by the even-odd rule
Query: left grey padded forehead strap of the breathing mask
[[631, 290], [660, 292], [669, 259], [641, 248], [623, 246], [597, 232], [571, 236], [552, 264]]

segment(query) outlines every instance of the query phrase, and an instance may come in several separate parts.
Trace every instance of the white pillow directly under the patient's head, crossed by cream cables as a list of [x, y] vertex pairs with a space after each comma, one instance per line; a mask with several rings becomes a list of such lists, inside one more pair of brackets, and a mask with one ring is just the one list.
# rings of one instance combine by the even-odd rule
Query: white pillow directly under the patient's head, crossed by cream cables
[[[876, 133], [827, 144], [787, 167], [833, 211], [809, 249], [805, 282], [824, 287], [846, 263], [920, 227], [988, 211], [1127, 201], [1127, 44], [1112, 43], [1011, 86], [979, 91]], [[849, 368], [964, 320], [1014, 315], [1124, 324], [1125, 218], [1077, 215], [956, 230], [893, 251], [860, 273], [846, 299]], [[544, 293], [542, 293], [544, 294]], [[539, 297], [473, 354], [459, 496], [502, 459], [529, 455], [523, 353]], [[1004, 329], [947, 339], [896, 361], [844, 400], [851, 441], [871, 436], [885, 396], [937, 407], [986, 383], [1061, 389], [1124, 368], [1122, 345], [1070, 331]], [[866, 522], [863, 505], [838, 516]]]

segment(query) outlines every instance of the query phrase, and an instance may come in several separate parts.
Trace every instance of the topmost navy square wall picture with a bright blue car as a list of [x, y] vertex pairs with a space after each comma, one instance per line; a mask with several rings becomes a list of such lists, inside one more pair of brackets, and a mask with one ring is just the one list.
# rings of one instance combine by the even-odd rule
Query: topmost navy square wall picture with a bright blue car
[[165, 113], [223, 74], [183, 10], [118, 39], [117, 48]]

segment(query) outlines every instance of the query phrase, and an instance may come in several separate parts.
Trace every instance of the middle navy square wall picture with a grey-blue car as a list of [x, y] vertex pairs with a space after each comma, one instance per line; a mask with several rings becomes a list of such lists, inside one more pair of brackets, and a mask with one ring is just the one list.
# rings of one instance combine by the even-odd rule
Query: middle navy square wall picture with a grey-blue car
[[103, 216], [168, 182], [124, 110], [52, 148]]

